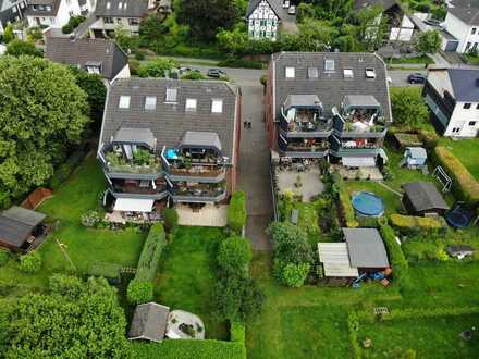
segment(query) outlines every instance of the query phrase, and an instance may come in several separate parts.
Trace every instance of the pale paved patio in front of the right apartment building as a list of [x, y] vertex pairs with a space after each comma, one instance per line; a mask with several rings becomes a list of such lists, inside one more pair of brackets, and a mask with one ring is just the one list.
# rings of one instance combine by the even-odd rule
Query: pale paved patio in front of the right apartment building
[[[311, 198], [324, 190], [324, 184], [319, 178], [319, 169], [310, 168], [304, 172], [295, 170], [275, 170], [278, 189], [280, 194], [293, 191], [303, 196], [304, 202], [310, 202]], [[300, 183], [300, 186], [297, 186]]]

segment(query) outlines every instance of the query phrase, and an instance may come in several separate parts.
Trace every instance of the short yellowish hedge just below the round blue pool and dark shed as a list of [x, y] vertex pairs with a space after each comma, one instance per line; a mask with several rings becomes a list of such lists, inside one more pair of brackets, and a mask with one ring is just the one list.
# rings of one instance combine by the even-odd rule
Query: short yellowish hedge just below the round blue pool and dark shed
[[391, 226], [405, 235], [445, 234], [447, 232], [444, 220], [441, 221], [440, 218], [401, 215], [394, 213], [390, 215], [389, 220]]

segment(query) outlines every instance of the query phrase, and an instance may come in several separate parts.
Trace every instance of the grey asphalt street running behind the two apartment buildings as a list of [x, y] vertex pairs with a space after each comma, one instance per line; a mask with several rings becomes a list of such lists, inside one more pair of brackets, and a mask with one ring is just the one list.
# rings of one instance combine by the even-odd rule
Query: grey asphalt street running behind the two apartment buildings
[[[211, 66], [189, 66], [196, 69], [206, 74], [208, 69]], [[230, 69], [220, 67], [224, 70], [232, 79], [234, 79], [240, 86], [257, 86], [259, 84], [259, 78], [261, 75], [266, 74], [265, 70], [250, 70], [250, 69]], [[412, 70], [390, 70], [388, 71], [388, 76], [391, 78], [391, 86], [421, 86], [421, 85], [410, 85], [407, 83], [407, 76], [412, 73], [420, 72], [427, 74], [427, 71], [412, 71]]]

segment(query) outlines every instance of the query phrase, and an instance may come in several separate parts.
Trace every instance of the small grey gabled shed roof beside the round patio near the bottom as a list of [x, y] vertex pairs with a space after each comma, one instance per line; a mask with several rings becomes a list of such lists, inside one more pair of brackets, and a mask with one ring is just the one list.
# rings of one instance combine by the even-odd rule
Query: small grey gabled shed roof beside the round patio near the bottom
[[170, 308], [156, 302], [137, 306], [130, 326], [130, 339], [161, 342], [167, 331], [169, 313]]

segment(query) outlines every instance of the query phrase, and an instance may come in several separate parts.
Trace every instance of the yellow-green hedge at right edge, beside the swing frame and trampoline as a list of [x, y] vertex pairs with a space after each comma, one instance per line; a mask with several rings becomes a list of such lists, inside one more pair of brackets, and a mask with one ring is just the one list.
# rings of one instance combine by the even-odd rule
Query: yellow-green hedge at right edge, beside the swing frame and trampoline
[[456, 197], [469, 205], [479, 203], [479, 182], [449, 149], [442, 146], [434, 148], [433, 158], [453, 178], [452, 189]]

